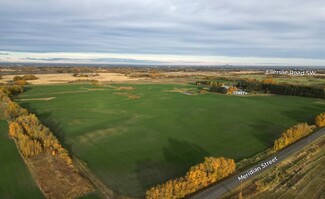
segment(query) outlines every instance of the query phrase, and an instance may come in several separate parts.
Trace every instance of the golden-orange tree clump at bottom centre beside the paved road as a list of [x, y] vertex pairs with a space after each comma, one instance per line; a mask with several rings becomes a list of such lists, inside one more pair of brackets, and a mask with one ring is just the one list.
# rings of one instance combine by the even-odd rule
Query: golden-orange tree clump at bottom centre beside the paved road
[[192, 166], [184, 177], [169, 180], [148, 190], [146, 198], [183, 198], [230, 175], [235, 169], [233, 159], [206, 157], [203, 163]]

